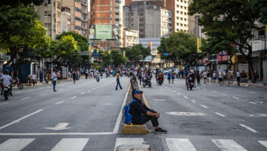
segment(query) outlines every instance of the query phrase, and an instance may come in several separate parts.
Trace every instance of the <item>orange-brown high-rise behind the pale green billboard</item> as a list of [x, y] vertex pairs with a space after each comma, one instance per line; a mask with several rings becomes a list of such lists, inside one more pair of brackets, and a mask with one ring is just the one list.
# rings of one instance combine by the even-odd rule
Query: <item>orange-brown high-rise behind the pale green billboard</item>
[[94, 47], [118, 49], [123, 36], [121, 0], [90, 0], [89, 38]]

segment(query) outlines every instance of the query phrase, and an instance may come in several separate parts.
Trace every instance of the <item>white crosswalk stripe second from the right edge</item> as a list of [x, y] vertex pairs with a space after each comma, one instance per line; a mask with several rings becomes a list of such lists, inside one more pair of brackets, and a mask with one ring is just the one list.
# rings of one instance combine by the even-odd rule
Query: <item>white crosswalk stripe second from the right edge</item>
[[212, 141], [223, 151], [247, 151], [232, 139], [212, 139]]

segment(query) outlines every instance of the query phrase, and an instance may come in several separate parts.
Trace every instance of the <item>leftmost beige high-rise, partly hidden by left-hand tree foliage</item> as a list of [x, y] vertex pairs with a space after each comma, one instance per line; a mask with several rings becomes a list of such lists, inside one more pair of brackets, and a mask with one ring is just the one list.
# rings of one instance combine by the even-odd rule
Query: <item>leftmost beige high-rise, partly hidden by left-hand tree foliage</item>
[[39, 20], [47, 28], [47, 35], [55, 39], [56, 34], [60, 34], [60, 0], [45, 0], [42, 5], [34, 6], [39, 16]]

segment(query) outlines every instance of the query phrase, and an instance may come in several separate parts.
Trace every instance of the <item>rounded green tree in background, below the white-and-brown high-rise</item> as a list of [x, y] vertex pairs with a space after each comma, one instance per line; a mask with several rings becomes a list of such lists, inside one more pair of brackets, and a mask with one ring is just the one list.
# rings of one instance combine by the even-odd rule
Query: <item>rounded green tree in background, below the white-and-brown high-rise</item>
[[157, 47], [160, 54], [170, 53], [170, 56], [161, 56], [164, 60], [173, 60], [179, 64], [181, 60], [189, 62], [190, 55], [196, 54], [196, 38], [192, 34], [184, 32], [175, 32], [168, 38], [160, 40], [160, 46]]

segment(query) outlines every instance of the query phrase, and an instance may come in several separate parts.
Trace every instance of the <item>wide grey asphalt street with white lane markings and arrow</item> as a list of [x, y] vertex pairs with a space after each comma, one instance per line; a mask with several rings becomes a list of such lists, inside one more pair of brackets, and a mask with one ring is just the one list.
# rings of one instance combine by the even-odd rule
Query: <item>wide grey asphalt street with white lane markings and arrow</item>
[[[153, 75], [155, 76], [155, 75]], [[0, 101], [0, 150], [113, 151], [147, 141], [151, 150], [267, 150], [267, 90], [208, 82], [187, 90], [185, 80], [141, 86], [168, 134], [120, 135], [129, 78], [81, 79], [14, 89]]]

